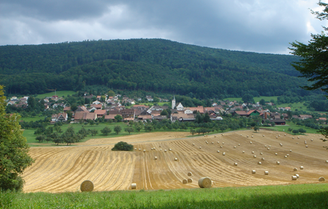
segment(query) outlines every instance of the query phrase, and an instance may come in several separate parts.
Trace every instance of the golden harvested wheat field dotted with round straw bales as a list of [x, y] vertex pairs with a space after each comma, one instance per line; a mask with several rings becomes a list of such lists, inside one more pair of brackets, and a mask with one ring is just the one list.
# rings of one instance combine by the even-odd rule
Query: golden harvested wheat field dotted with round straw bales
[[[36, 162], [23, 174], [24, 191], [77, 191], [85, 180], [93, 182], [94, 191], [102, 191], [130, 190], [133, 183], [137, 190], [199, 188], [198, 180], [204, 176], [213, 180], [214, 187], [305, 184], [319, 183], [319, 177], [328, 179], [328, 151], [318, 134], [298, 138], [284, 136], [284, 132], [247, 130], [223, 136], [185, 138], [187, 135], [156, 132], [88, 140], [71, 147], [31, 147]], [[121, 140], [137, 150], [111, 151]], [[296, 174], [299, 177], [292, 180]], [[183, 184], [183, 180], [188, 183]]]

